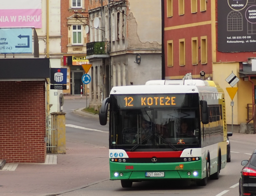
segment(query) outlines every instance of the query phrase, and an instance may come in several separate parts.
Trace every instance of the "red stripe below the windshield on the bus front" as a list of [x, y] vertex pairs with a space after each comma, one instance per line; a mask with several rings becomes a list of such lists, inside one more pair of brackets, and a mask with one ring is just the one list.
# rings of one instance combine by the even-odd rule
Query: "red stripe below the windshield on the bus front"
[[174, 152], [126, 152], [129, 158], [172, 158], [180, 157], [182, 151]]

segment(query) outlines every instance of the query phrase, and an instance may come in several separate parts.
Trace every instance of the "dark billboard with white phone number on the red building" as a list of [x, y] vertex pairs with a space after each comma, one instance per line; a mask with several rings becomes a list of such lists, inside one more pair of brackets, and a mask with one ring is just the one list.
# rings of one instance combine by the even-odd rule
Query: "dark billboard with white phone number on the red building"
[[256, 51], [256, 0], [218, 0], [218, 51]]

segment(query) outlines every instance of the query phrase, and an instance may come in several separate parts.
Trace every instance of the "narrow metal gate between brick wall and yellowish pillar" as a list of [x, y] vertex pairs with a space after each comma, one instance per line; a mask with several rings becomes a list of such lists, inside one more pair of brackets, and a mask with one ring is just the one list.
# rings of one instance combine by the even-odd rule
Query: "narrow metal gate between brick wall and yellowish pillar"
[[55, 153], [57, 148], [57, 115], [46, 115], [46, 152]]

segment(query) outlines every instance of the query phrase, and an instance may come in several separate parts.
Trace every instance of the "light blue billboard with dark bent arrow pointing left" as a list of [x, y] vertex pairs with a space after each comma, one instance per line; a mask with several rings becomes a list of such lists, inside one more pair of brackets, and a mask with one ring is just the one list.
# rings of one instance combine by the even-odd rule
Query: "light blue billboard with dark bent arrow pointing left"
[[0, 29], [0, 54], [32, 53], [32, 29]]

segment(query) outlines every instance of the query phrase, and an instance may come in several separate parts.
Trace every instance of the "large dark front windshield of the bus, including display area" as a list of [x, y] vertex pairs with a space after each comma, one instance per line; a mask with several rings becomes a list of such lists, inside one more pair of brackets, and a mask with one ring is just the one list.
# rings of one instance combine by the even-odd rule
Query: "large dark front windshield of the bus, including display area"
[[[173, 103], [176, 105], [161, 107], [160, 102], [157, 105], [144, 105], [148, 97], [152, 97], [153, 101], [156, 97], [169, 97], [170, 100], [175, 97]], [[136, 95], [132, 96], [133, 102], [130, 103], [133, 106], [126, 107], [128, 98], [124, 95], [112, 96], [110, 149], [175, 151], [200, 147], [198, 94]], [[124, 103], [120, 103], [122, 100]], [[151, 104], [151, 100], [148, 103]]]

